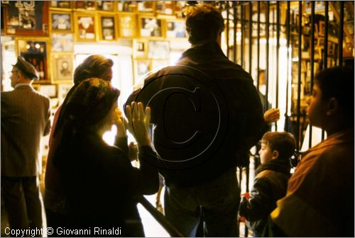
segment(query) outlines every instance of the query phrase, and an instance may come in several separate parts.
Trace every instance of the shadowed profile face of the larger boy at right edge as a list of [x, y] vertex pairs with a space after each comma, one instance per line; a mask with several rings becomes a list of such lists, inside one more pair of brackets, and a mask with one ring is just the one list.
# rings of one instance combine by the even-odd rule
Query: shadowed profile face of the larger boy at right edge
[[322, 91], [318, 84], [313, 86], [312, 96], [307, 99], [307, 115], [310, 118], [310, 123], [319, 128], [324, 125], [324, 118], [326, 118], [326, 110], [324, 102], [322, 101]]

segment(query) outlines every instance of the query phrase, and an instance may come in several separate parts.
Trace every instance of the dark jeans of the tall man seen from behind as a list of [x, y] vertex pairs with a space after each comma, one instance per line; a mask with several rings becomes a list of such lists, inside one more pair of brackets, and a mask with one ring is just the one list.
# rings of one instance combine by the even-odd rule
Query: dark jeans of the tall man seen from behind
[[[185, 237], [195, 237], [200, 219], [209, 237], [239, 237], [240, 189], [236, 171], [189, 188], [165, 188], [165, 217]], [[202, 216], [203, 214], [203, 216]]]

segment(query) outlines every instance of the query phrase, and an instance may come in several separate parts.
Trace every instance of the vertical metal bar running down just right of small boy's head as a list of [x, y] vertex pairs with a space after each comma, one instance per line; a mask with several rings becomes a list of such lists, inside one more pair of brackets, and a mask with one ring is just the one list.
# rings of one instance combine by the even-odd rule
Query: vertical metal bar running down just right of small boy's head
[[301, 113], [301, 59], [302, 59], [302, 1], [298, 2], [298, 82], [297, 82], [297, 130], [296, 149], [300, 149], [300, 113]]

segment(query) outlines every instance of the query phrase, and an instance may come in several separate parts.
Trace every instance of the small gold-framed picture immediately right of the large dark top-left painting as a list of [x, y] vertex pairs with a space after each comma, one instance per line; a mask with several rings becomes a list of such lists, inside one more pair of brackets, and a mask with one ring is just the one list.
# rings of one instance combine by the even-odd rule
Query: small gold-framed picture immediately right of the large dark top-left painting
[[63, 11], [50, 11], [50, 29], [53, 32], [72, 32], [72, 13]]

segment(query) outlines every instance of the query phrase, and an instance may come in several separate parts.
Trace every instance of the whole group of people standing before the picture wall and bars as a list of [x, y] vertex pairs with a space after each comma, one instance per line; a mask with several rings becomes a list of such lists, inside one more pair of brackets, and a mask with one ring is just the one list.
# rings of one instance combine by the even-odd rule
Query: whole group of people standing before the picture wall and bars
[[[280, 111], [263, 110], [251, 75], [222, 52], [222, 14], [207, 4], [185, 15], [192, 46], [176, 65], [148, 76], [120, 110], [113, 62], [87, 57], [51, 129], [49, 98], [31, 86], [38, 72], [18, 57], [14, 90], [1, 92], [1, 189], [11, 229], [43, 227], [38, 154], [50, 133], [44, 208], [54, 230], [119, 227], [119, 236], [143, 237], [136, 205], [158, 192], [161, 176], [165, 217], [185, 237], [239, 237], [239, 220], [255, 237], [353, 237], [354, 69], [316, 74], [307, 116], [327, 139], [290, 174], [295, 138], [268, 132]], [[102, 137], [112, 125], [110, 146]], [[261, 165], [241, 195], [236, 167], [249, 163], [259, 141]]]

